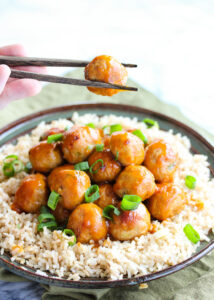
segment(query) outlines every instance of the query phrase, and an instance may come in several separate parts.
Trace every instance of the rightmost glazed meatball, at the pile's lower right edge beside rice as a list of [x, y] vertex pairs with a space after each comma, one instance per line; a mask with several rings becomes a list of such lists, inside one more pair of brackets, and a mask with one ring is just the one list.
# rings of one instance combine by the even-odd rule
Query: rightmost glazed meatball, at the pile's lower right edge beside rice
[[185, 193], [176, 184], [157, 185], [156, 193], [148, 200], [147, 207], [151, 215], [163, 221], [179, 214], [186, 203]]

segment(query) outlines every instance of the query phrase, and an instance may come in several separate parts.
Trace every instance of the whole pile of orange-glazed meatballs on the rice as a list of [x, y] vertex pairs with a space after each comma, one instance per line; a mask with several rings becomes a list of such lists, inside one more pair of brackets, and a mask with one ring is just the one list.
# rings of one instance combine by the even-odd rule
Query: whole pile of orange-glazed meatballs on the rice
[[[12, 209], [17, 213], [39, 213], [47, 205], [51, 191], [60, 195], [52, 214], [58, 224], [72, 229], [80, 243], [131, 240], [151, 232], [151, 220], [163, 221], [181, 212], [185, 194], [173, 183], [177, 155], [164, 140], [147, 145], [133, 130], [105, 134], [102, 129], [74, 125], [69, 130], [52, 128], [30, 149], [32, 174], [16, 191]], [[62, 140], [48, 143], [50, 135], [62, 133]], [[103, 144], [102, 151], [96, 145]], [[93, 172], [76, 170], [74, 165], [88, 161]], [[85, 192], [99, 186], [100, 197], [85, 202]], [[137, 195], [142, 201], [136, 209], [122, 210], [124, 195]], [[112, 219], [103, 217], [103, 209], [114, 205]]]

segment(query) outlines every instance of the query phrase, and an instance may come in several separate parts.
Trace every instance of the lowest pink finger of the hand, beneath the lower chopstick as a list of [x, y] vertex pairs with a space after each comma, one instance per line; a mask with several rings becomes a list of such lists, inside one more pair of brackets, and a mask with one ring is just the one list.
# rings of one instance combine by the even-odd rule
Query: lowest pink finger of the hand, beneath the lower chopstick
[[8, 83], [0, 95], [0, 108], [6, 106], [9, 102], [31, 97], [41, 91], [41, 85], [37, 80], [18, 79]]

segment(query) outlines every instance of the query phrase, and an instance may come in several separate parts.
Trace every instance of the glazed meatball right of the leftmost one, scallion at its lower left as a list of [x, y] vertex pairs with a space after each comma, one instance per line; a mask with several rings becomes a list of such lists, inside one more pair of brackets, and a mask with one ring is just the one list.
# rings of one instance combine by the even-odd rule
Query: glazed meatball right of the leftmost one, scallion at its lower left
[[69, 210], [84, 201], [85, 192], [91, 185], [89, 176], [77, 170], [61, 170], [48, 182], [51, 191], [61, 195], [62, 206]]

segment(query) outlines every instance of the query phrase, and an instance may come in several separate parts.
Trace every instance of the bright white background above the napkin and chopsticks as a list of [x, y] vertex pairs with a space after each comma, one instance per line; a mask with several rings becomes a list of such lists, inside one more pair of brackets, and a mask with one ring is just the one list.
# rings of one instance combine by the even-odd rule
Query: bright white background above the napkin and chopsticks
[[213, 38], [214, 0], [0, 0], [0, 45], [137, 63], [132, 79], [214, 133]]

